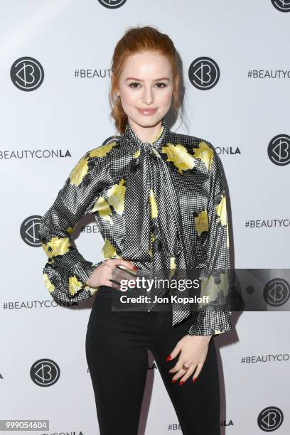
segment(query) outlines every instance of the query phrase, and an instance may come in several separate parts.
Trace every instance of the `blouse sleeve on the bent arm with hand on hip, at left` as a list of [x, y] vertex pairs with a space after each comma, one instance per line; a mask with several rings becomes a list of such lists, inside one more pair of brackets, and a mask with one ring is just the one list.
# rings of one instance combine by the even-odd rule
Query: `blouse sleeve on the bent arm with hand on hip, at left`
[[82, 215], [89, 214], [102, 191], [104, 159], [88, 151], [77, 162], [53, 205], [41, 218], [39, 239], [48, 257], [43, 268], [45, 287], [53, 298], [77, 302], [95, 294], [86, 281], [101, 262], [93, 264], [73, 247], [70, 233]]

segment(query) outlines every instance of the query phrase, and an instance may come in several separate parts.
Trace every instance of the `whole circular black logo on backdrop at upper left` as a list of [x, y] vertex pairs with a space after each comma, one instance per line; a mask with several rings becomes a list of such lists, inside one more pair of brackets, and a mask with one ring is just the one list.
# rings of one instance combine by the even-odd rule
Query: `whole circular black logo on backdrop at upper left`
[[44, 71], [38, 60], [24, 56], [15, 60], [11, 66], [10, 77], [18, 89], [32, 91], [41, 86]]

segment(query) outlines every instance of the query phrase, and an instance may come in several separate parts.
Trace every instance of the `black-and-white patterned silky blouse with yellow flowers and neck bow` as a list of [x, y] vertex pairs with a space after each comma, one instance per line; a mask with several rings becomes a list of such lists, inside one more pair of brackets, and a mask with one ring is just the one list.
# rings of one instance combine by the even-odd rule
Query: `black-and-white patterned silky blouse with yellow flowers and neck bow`
[[[104, 238], [104, 260], [95, 264], [70, 238], [85, 214], [95, 215]], [[235, 286], [218, 156], [210, 142], [174, 133], [164, 118], [152, 144], [127, 124], [124, 135], [87, 151], [41, 218], [39, 237], [48, 256], [43, 279], [55, 299], [90, 298], [98, 289], [86, 281], [109, 258], [129, 259], [137, 274], [158, 279], [186, 278], [187, 271], [198, 269], [200, 296], [208, 299], [198, 303], [188, 334], [217, 335], [232, 328]], [[163, 293], [158, 286], [149, 292]], [[186, 289], [182, 298], [188, 296]], [[172, 311], [176, 325], [188, 318], [190, 304], [173, 301]]]

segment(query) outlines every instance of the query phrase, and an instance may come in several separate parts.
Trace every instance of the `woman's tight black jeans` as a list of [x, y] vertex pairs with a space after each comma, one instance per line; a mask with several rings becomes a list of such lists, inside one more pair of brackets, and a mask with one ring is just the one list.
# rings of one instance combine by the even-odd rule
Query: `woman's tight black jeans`
[[[193, 318], [171, 325], [171, 311], [112, 311], [112, 294], [100, 286], [90, 313], [86, 357], [92, 379], [101, 435], [137, 435], [148, 370], [154, 356], [163, 383], [185, 435], [220, 435], [220, 386], [215, 344], [198, 379], [190, 375], [183, 385], [168, 373], [179, 355], [166, 361], [178, 340], [186, 335]], [[119, 294], [119, 293], [118, 293]], [[97, 431], [96, 431], [97, 434]]]

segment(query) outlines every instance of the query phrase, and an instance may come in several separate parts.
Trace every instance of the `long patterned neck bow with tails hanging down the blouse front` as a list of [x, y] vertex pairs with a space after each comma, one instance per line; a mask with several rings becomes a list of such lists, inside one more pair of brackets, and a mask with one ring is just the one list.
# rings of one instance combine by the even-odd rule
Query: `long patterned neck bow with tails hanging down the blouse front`
[[[124, 139], [129, 149], [135, 149], [134, 168], [127, 176], [124, 213], [127, 237], [122, 257], [143, 262], [142, 276], [156, 279], [156, 286], [149, 291], [149, 311], [156, 306], [155, 296], [163, 296], [166, 286], [161, 283], [171, 280], [175, 269], [184, 271], [186, 262], [181, 242], [181, 220], [176, 189], [166, 162], [161, 157], [161, 149], [167, 138], [168, 128], [163, 119], [159, 136], [153, 144], [142, 142], [127, 124]], [[167, 138], [167, 139], [166, 139]], [[132, 213], [135, 210], [136, 213]], [[127, 218], [126, 218], [127, 217]], [[175, 276], [175, 275], [174, 275]], [[160, 284], [160, 285], [159, 285]], [[174, 296], [174, 292], [171, 291]], [[176, 294], [176, 292], [175, 292]], [[183, 291], [183, 301], [189, 297]], [[172, 302], [173, 325], [190, 315], [190, 304]]]

